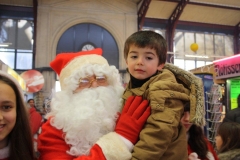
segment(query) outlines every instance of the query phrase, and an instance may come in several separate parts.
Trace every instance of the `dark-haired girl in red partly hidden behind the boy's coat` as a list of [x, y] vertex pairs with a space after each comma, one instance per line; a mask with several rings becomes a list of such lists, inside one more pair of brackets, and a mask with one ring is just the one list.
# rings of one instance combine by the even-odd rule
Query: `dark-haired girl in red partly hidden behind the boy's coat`
[[211, 143], [204, 136], [200, 126], [190, 123], [189, 103], [184, 107], [184, 115], [181, 118], [185, 126], [188, 137], [188, 155], [189, 160], [218, 160]]

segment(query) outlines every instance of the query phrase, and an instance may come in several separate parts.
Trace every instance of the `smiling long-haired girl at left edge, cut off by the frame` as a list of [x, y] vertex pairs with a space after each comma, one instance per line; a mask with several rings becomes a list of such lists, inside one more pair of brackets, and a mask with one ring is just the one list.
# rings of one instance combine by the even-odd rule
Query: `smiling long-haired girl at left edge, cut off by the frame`
[[0, 71], [0, 160], [34, 160], [28, 113], [22, 89]]

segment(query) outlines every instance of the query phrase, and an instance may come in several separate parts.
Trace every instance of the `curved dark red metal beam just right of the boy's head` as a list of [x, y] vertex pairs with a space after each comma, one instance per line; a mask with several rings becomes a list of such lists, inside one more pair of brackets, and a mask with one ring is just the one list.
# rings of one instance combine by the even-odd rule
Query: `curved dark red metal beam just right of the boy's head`
[[189, 2], [189, 0], [181, 0], [177, 7], [174, 9], [170, 18], [168, 19], [167, 26], [167, 41], [168, 41], [168, 51], [173, 52], [173, 38], [176, 25], [178, 23], [179, 17], [181, 16], [184, 7]]

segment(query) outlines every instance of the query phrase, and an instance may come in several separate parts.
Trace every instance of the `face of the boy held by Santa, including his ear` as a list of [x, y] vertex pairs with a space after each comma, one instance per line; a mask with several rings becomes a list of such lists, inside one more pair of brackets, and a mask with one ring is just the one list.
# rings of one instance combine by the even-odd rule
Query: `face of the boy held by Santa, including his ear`
[[135, 45], [129, 47], [126, 59], [130, 74], [137, 79], [146, 79], [161, 70], [164, 64], [158, 65], [158, 56], [154, 49], [139, 48]]

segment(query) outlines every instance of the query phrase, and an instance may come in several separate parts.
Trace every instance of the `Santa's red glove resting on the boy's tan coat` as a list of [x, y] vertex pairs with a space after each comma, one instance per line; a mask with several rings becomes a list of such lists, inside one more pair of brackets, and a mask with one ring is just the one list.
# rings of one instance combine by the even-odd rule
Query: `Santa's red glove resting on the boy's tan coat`
[[115, 132], [135, 144], [150, 113], [147, 100], [142, 100], [142, 97], [139, 96], [129, 97], [118, 118]]

